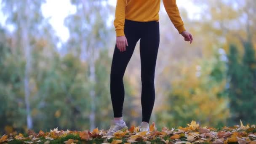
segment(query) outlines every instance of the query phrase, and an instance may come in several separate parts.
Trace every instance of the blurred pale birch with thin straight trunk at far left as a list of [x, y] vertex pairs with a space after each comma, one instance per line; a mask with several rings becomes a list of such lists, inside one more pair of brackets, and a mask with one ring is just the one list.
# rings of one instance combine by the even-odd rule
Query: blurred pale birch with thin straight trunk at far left
[[[23, 82], [24, 85], [24, 99], [26, 106], [27, 115], [27, 128], [32, 128], [32, 117], [31, 117], [31, 69], [32, 69], [32, 35], [36, 32], [38, 25], [40, 24], [43, 16], [40, 11], [40, 6], [44, 1], [15, 1], [15, 0], [2, 0], [3, 12], [7, 16], [7, 24], [12, 24], [15, 27], [14, 32], [16, 33], [16, 48], [18, 51], [21, 50], [23, 58], [25, 59], [25, 69]], [[29, 5], [29, 7], [27, 7]], [[39, 11], [38, 11], [39, 10]]]

